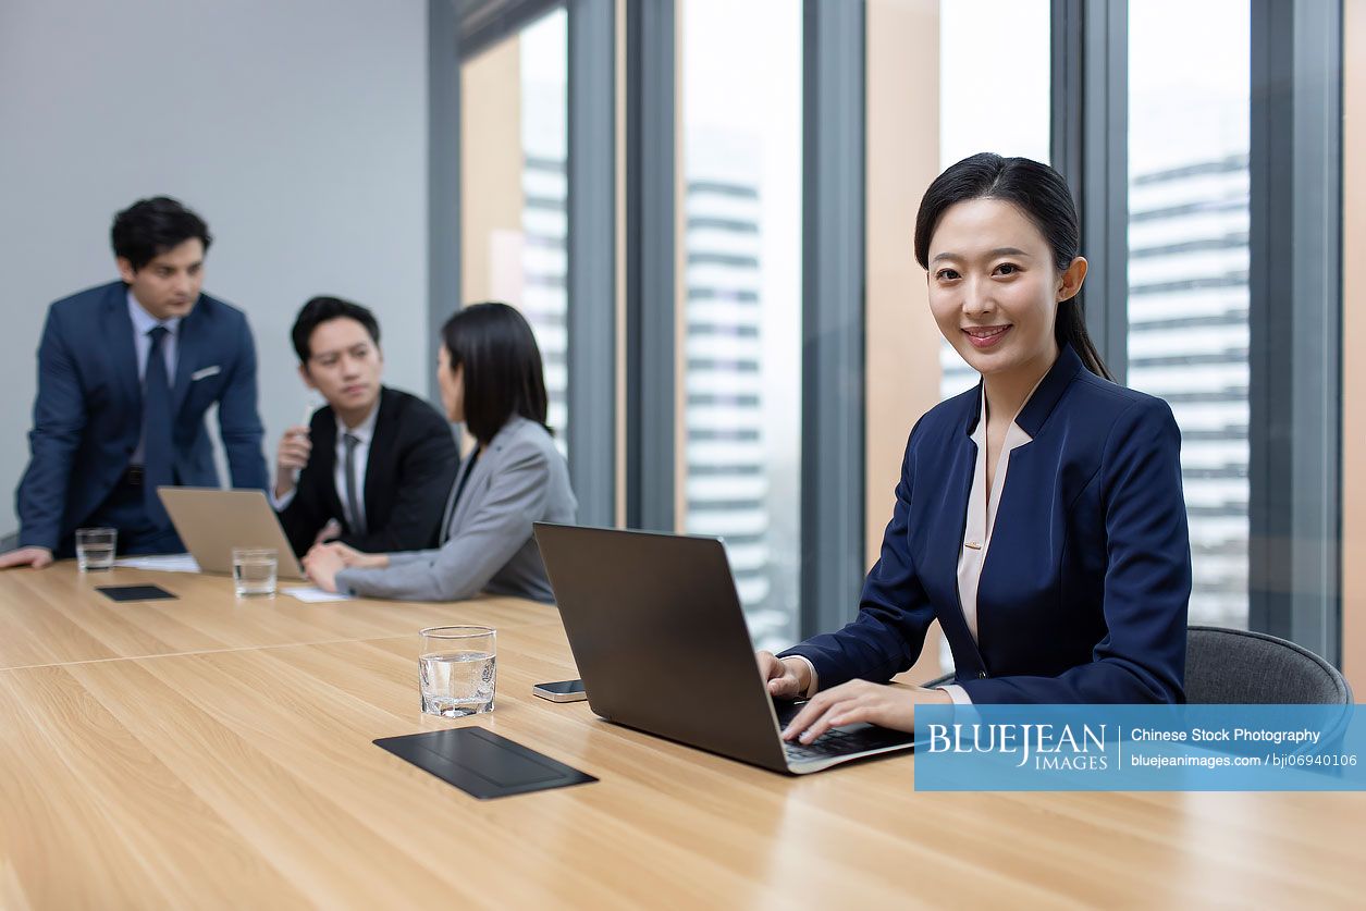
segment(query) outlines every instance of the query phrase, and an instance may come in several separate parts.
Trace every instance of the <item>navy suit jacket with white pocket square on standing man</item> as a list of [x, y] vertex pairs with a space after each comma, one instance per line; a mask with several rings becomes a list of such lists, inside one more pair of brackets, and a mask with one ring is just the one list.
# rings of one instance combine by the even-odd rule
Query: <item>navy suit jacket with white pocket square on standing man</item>
[[[219, 486], [204, 425], [213, 403], [232, 485], [264, 490], [251, 331], [240, 310], [201, 294], [176, 336], [171, 440], [178, 483]], [[57, 300], [38, 346], [31, 459], [15, 496], [20, 546], [57, 550], [113, 490], [141, 436], [127, 285], [113, 281]]]

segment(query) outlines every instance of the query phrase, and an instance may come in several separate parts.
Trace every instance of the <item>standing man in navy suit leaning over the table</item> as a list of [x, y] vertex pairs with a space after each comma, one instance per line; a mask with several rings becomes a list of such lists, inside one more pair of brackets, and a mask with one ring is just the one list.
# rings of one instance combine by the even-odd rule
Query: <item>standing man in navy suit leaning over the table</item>
[[201, 294], [208, 225], [156, 197], [120, 212], [111, 234], [120, 280], [48, 310], [19, 549], [0, 568], [70, 556], [83, 526], [117, 529], [122, 553], [183, 550], [157, 486], [219, 486], [212, 404], [234, 486], [268, 485], [251, 331]]

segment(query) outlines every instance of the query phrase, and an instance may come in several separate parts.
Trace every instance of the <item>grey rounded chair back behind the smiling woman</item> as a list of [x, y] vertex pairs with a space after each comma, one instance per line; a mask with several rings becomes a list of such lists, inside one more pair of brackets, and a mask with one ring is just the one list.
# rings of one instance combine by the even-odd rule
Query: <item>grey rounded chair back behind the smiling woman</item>
[[[947, 673], [926, 683], [952, 683]], [[1265, 632], [1190, 627], [1186, 701], [1203, 705], [1351, 705], [1352, 688], [1309, 649]]]

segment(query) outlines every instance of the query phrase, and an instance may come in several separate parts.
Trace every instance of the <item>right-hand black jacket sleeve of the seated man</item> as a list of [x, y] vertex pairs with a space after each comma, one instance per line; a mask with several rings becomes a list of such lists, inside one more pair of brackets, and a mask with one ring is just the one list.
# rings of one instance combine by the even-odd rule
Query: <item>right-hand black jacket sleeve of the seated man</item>
[[343, 544], [366, 553], [417, 550], [436, 544], [437, 526], [445, 512], [445, 499], [455, 481], [460, 456], [455, 451], [451, 425], [429, 408], [410, 408], [418, 421], [399, 458], [398, 492], [389, 520], [363, 535], [344, 535]]

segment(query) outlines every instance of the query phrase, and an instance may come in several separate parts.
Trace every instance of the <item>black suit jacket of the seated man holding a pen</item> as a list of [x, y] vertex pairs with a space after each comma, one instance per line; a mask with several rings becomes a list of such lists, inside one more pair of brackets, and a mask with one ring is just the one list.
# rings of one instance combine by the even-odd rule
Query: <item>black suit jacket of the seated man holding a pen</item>
[[365, 526], [358, 534], [346, 522], [336, 489], [337, 423], [332, 408], [318, 408], [309, 422], [313, 452], [299, 473], [294, 499], [280, 523], [302, 556], [328, 523], [342, 523], [342, 542], [367, 553], [436, 546], [441, 511], [460, 462], [451, 425], [417, 396], [385, 388], [365, 463]]

